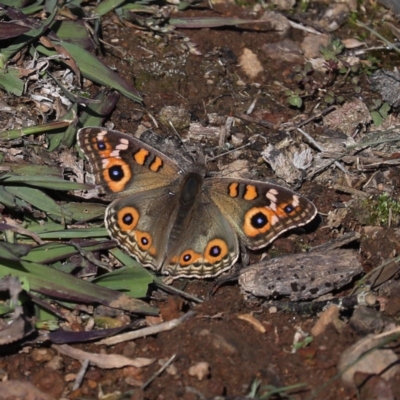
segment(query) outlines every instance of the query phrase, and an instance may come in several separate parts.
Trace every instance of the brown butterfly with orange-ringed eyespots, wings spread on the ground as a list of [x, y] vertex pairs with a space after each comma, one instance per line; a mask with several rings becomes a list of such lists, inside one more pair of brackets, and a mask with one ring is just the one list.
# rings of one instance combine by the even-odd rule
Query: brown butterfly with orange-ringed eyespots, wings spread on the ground
[[317, 214], [312, 202], [282, 186], [209, 177], [204, 163], [128, 134], [87, 127], [78, 144], [112, 200], [104, 219], [110, 236], [172, 278], [217, 276], [236, 263], [240, 243], [260, 249]]

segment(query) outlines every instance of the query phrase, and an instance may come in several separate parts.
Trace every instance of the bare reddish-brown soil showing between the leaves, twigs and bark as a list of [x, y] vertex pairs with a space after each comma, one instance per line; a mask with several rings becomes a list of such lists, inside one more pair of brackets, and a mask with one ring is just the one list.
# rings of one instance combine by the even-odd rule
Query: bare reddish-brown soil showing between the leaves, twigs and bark
[[[319, 4], [318, 7], [322, 5]], [[320, 15], [318, 7], [310, 7], [308, 14], [305, 14], [307, 21], [312, 21]], [[214, 11], [206, 8], [186, 10], [177, 16], [236, 16], [255, 19], [263, 14], [263, 11], [251, 10], [250, 6], [241, 7], [226, 2], [216, 5]], [[396, 21], [393, 23], [398, 25]], [[304, 24], [306, 25], [306, 22]], [[260, 151], [268, 143], [275, 145], [282, 141], [285, 137], [282, 124], [288, 123], [287, 126], [290, 126], [290, 123], [307, 119], [319, 112], [315, 108], [319, 102], [317, 99], [310, 100], [301, 109], [288, 105], [285, 88], [294, 90], [297, 87], [294, 80], [295, 67], [303, 65], [296, 61], [272, 59], [265, 51], [265, 45], [280, 42], [283, 37], [262, 24], [249, 24], [240, 28], [179, 29], [155, 38], [154, 33], [116, 24], [110, 16], [104, 19], [103, 28], [104, 40], [112, 42], [125, 52], [125, 57], [121, 58], [118, 51], [111, 49], [102, 57], [103, 61], [112, 65], [127, 81], [135, 84], [145, 104], [141, 107], [121, 97], [111, 117], [115, 129], [134, 133], [139, 125], [144, 125], [157, 132], [171, 134], [171, 128], [160, 122], [158, 117], [160, 110], [167, 105], [183, 108], [190, 114], [191, 122], [199, 122], [205, 127], [209, 126], [209, 115], [212, 113], [225, 119], [227, 116], [237, 117], [231, 134], [240, 138], [243, 144], [251, 137], [252, 144], [239, 152], [233, 152], [209, 163], [211, 170], [218, 170], [236, 160], [247, 160], [247, 172], [251, 172], [253, 177], [276, 180], [270, 166], [260, 158]], [[300, 44], [306, 35], [304, 31], [290, 29], [286, 38]], [[354, 26], [344, 24], [330, 35], [341, 39], [354, 37]], [[184, 45], [188, 41], [185, 42], [183, 36], [196, 46], [199, 55], [188, 51]], [[116, 38], [118, 40], [115, 40]], [[366, 35], [366, 38], [373, 42], [370, 36]], [[244, 49], [251, 50], [262, 66], [262, 71], [253, 78], [240, 65], [239, 58]], [[388, 69], [392, 62], [391, 57], [396, 59], [384, 51], [377, 56], [384, 60]], [[395, 65], [392, 64], [392, 68]], [[326, 75], [322, 76], [321, 80], [328, 79]], [[376, 96], [371, 93], [367, 77], [361, 78], [360, 86], [362, 94], [359, 96], [366, 103]], [[336, 95], [343, 95], [346, 102], [357, 96], [349, 83], [338, 83], [334, 90]], [[254, 99], [257, 99], [255, 110], [250, 116], [258, 121], [271, 123], [271, 129], [238, 118], [246, 113]], [[158, 127], [154, 126], [150, 115], [158, 121]], [[327, 132], [321, 119], [312, 120], [304, 129], [317, 141], [322, 140]], [[370, 128], [364, 126], [362, 129]], [[187, 127], [178, 130], [183, 138], [188, 136]], [[293, 135], [296, 136], [297, 133]], [[190, 134], [189, 138], [193, 139]], [[227, 142], [229, 141], [230, 138], [227, 139]], [[218, 145], [218, 138], [205, 139], [203, 143], [206, 143], [206, 151], [210, 151]], [[356, 166], [347, 167], [357, 174]], [[396, 166], [389, 165], [380, 170], [362, 172], [353, 181], [354, 187], [362, 190], [361, 184], [358, 185], [361, 175], [363, 182], [366, 182], [377, 172], [388, 174], [387, 180], [394, 188], [392, 196], [398, 199], [400, 174]], [[378, 224], [363, 222], [354, 207], [350, 208], [347, 216], [336, 225], [330, 220], [327, 222], [330, 213], [352, 200], [351, 192], [346, 193], [334, 188], [335, 184], [345, 184], [346, 179], [342, 171], [332, 167], [323, 177], [305, 181], [298, 191], [314, 202], [320, 216], [308, 226], [288, 232], [263, 252], [250, 252], [251, 262], [259, 260], [262, 253], [267, 253], [268, 258], [271, 254], [275, 256], [301, 252], [304, 248], [326, 243], [350, 231], [362, 235], [350, 248], [358, 252], [365, 273], [396, 256], [400, 250], [400, 235], [396, 224], [388, 227], [387, 224], [377, 226]], [[350, 294], [355, 280], [345, 288], [337, 290], [334, 296], [344, 297]], [[54, 398], [122, 398], [118, 397], [116, 392], [128, 392], [123, 398], [196, 400], [226, 396], [239, 399], [250, 393], [251, 384], [255, 379], [260, 380], [262, 386], [272, 385], [276, 388], [303, 383], [301, 389], [290, 392], [292, 399], [357, 398], [357, 391], [347, 387], [340, 377], [336, 377], [342, 353], [365, 336], [365, 332], [357, 332], [349, 324], [352, 309], [341, 313], [338, 318], [341, 324], [328, 324], [307, 347], [293, 352], [296, 332], [301, 329], [309, 333], [319, 319], [318, 313], [285, 312], [275, 310], [271, 300], [246, 300], [237, 281], [221, 285], [210, 296], [214, 283], [214, 279], [186, 282], [186, 292], [204, 299], [204, 302], [198, 305], [174, 296], [162, 296], [161, 300], [160, 297], [158, 300], [149, 299], [153, 304], [164, 308], [165, 319], [171, 319], [167, 316], [168, 313], [172, 314], [172, 317], [179, 317], [189, 310], [196, 312], [195, 316], [177, 328], [138, 339], [134, 343], [101, 348], [101, 351], [106, 353], [155, 358], [157, 362], [149, 367], [111, 370], [89, 367], [82, 386], [71, 391], [72, 377], [80, 370], [80, 363], [62, 356], [58, 360], [61, 367], [51, 368], [48, 363], [55, 362], [54, 358], [58, 357], [57, 351], [34, 346], [19, 352], [15, 348], [8, 349], [7, 354], [0, 358], [0, 371], [6, 373], [9, 380], [30, 381]], [[176, 287], [182, 287], [182, 284], [182, 281], [173, 283]], [[381, 302], [373, 308], [380, 309], [379, 314], [389, 318], [394, 325], [400, 311], [398, 294], [399, 290], [396, 292], [393, 288], [379, 293]], [[253, 323], [241, 319], [244, 314], [252, 314], [265, 331], [260, 332]], [[99, 351], [95, 345], [77, 347], [87, 351]], [[395, 351], [398, 352], [396, 349]], [[172, 367], [157, 376], [144, 390], [139, 389], [140, 385], [160, 368], [159, 361], [165, 361], [173, 354], [177, 356]], [[200, 362], [208, 363], [207, 372], [204, 376], [192, 376], [190, 368]], [[399, 373], [390, 378], [390, 383], [385, 385], [385, 389], [389, 387], [394, 397], [361, 398], [400, 398]], [[115, 397], [101, 397], [99, 393], [114, 393]], [[371, 393], [369, 392], [369, 395]], [[275, 395], [272, 398], [286, 397]]]

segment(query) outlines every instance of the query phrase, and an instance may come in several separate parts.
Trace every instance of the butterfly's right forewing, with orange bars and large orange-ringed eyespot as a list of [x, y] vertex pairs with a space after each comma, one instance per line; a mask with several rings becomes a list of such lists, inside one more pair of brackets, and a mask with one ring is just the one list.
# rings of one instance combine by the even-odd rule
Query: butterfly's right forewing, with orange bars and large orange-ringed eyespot
[[306, 225], [317, 214], [305, 197], [270, 183], [210, 178], [204, 187], [250, 249], [266, 246], [283, 232]]

